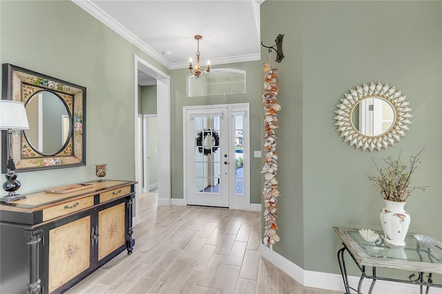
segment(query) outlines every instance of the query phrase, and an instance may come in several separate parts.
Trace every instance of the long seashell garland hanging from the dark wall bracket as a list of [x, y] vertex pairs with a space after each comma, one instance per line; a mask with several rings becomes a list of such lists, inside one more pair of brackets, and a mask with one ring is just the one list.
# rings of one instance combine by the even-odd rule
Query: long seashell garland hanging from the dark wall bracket
[[278, 181], [276, 180], [276, 173], [278, 171], [278, 155], [276, 155], [276, 138], [278, 135], [275, 133], [275, 129], [278, 128], [278, 115], [277, 111], [281, 110], [281, 106], [276, 103], [276, 95], [278, 95], [278, 77], [276, 74], [276, 68], [271, 68], [269, 63], [264, 63], [265, 71], [264, 75], [264, 95], [262, 95], [262, 101], [264, 103], [264, 130], [265, 130], [265, 157], [264, 167], [261, 173], [265, 173], [264, 182], [264, 244], [272, 247], [273, 244], [279, 241], [278, 225], [276, 224], [276, 217], [278, 213], [276, 210], [276, 202], [280, 193], [278, 190]]

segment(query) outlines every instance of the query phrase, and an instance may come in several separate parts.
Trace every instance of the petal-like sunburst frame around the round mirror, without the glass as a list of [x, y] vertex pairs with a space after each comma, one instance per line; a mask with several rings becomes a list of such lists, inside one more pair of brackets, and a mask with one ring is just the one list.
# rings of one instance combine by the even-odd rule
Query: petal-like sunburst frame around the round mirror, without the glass
[[[344, 142], [349, 142], [350, 146], [361, 150], [381, 150], [389, 145], [393, 146], [395, 141], [401, 141], [401, 137], [405, 137], [405, 131], [409, 130], [408, 125], [411, 124], [412, 115], [409, 107], [410, 102], [406, 101], [406, 96], [402, 95], [401, 90], [388, 86], [388, 84], [363, 84], [362, 87], [356, 86], [356, 89], [350, 90], [349, 94], [344, 94], [345, 99], [340, 99], [341, 104], [336, 105], [338, 110], [336, 113], [336, 123], [340, 132], [339, 137], [344, 137]], [[352, 112], [359, 104], [367, 98], [378, 98], [386, 101], [393, 108], [394, 119], [388, 130], [379, 135], [364, 135], [352, 122]], [[369, 109], [372, 110], [372, 109]]]

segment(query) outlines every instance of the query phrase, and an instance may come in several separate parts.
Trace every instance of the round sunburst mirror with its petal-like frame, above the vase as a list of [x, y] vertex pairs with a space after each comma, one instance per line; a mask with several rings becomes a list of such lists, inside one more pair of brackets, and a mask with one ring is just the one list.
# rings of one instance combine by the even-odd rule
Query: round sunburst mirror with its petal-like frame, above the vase
[[388, 84], [363, 84], [344, 94], [336, 105], [337, 132], [344, 142], [361, 150], [381, 150], [405, 137], [412, 115], [401, 90]]

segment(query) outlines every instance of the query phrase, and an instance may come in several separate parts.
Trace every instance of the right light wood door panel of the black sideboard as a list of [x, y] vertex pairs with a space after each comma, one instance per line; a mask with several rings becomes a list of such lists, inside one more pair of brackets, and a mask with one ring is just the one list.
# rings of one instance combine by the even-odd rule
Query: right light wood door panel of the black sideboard
[[126, 203], [98, 212], [98, 260], [126, 243]]

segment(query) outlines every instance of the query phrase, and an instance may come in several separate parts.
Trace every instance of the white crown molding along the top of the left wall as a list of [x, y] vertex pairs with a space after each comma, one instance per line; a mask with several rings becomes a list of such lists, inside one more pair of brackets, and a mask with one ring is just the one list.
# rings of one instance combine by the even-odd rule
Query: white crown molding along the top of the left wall
[[83, 8], [90, 15], [104, 23], [106, 26], [117, 32], [118, 35], [124, 37], [124, 39], [133, 43], [133, 45], [140, 48], [143, 52], [150, 55], [153, 59], [160, 62], [166, 68], [171, 69], [171, 63], [164, 59], [162, 55], [158, 54], [155, 50], [153, 50], [150, 46], [144, 43], [140, 38], [133, 35], [132, 32], [124, 28], [118, 21], [115, 21], [109, 14], [98, 8], [93, 2], [90, 0], [71, 0], [73, 3], [77, 4], [77, 6]]

